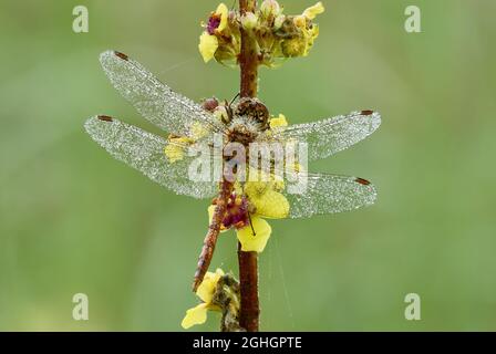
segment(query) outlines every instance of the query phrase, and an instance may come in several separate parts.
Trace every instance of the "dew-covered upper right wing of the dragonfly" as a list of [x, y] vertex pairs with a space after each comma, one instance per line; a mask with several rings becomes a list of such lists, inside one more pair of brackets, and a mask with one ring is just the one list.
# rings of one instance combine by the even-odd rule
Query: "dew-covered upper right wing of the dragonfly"
[[304, 124], [294, 124], [275, 131], [277, 140], [298, 140], [308, 144], [308, 158], [316, 160], [341, 152], [371, 135], [381, 125], [381, 115], [372, 111]]

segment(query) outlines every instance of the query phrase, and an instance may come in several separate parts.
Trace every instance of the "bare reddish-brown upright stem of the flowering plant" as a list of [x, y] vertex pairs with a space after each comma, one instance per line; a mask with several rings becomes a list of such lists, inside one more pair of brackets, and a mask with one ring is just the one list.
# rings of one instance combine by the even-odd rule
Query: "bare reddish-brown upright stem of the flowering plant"
[[[255, 12], [256, 0], [239, 0], [241, 15], [247, 11]], [[256, 97], [258, 91], [258, 54], [257, 42], [241, 29], [241, 53], [239, 66], [241, 70], [241, 97]], [[260, 308], [258, 303], [258, 254], [241, 251], [238, 243], [239, 287], [241, 309], [239, 324], [248, 332], [258, 332]]]

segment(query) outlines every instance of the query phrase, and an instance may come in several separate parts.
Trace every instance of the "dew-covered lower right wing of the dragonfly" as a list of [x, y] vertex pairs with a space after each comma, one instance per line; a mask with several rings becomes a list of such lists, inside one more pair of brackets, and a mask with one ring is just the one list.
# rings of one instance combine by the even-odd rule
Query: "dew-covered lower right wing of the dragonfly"
[[286, 183], [289, 218], [350, 211], [374, 204], [374, 186], [363, 179], [328, 174], [299, 174], [298, 185]]

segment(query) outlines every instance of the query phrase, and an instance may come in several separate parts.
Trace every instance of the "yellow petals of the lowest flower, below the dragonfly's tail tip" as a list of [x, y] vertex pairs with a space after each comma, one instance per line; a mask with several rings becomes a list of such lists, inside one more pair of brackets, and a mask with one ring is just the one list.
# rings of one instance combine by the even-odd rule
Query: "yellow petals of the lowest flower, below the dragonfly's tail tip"
[[214, 311], [220, 310], [217, 305], [214, 305], [211, 301], [214, 299], [217, 283], [219, 282], [223, 275], [224, 272], [221, 269], [217, 269], [215, 273], [207, 272], [205, 274], [204, 281], [202, 282], [202, 284], [199, 284], [198, 290], [196, 291], [196, 295], [203, 302], [197, 306], [186, 311], [186, 315], [184, 316], [183, 322], [180, 323], [180, 325], [185, 330], [194, 326], [195, 324], [205, 323], [205, 321], [207, 321], [208, 310]]

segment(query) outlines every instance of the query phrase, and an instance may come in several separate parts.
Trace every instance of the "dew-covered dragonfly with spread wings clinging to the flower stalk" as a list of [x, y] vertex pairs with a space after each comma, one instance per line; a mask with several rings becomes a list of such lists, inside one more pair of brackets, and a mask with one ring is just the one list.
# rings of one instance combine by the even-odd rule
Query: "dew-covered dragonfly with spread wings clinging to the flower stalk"
[[[311, 162], [327, 158], [359, 143], [381, 125], [381, 115], [366, 110], [271, 129], [267, 107], [260, 101], [247, 97], [239, 98], [237, 103], [226, 103], [227, 115], [219, 118], [211, 107], [174, 92], [124, 53], [106, 51], [100, 55], [100, 62], [113, 86], [144, 118], [164, 131], [164, 136], [108, 115], [96, 115], [85, 122], [84, 127], [90, 136], [114, 158], [137, 169], [158, 185], [178, 195], [217, 200], [198, 259], [193, 284], [195, 291], [210, 264], [223, 215], [234, 192], [234, 184], [225, 179], [192, 180], [188, 167], [195, 156], [185, 154], [180, 159], [173, 159], [164, 154], [167, 146], [187, 149], [192, 140], [211, 146], [214, 134], [223, 136], [225, 144], [304, 142], [308, 160]], [[195, 135], [195, 127], [198, 126], [204, 129], [200, 137]], [[370, 206], [376, 199], [375, 187], [364, 178], [304, 170], [300, 174], [307, 180], [304, 192], [281, 191], [290, 206], [288, 218], [350, 211]], [[249, 204], [249, 198], [245, 200]]]

